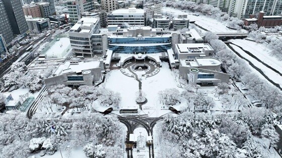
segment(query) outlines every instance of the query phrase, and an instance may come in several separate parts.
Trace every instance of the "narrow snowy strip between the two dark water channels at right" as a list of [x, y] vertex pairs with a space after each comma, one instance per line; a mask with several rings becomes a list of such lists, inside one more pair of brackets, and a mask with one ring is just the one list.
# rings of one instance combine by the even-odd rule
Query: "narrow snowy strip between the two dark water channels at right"
[[[282, 87], [282, 76], [274, 72], [273, 70], [267, 68], [262, 63], [257, 61], [256, 59], [252, 58], [250, 55], [246, 54], [242, 49], [239, 47], [230, 44], [230, 46], [237, 51], [242, 57], [248, 59], [250, 62], [252, 62], [257, 68], [259, 68], [269, 79], [271, 79], [273, 82], [277, 83]], [[251, 66], [250, 66], [251, 67]], [[253, 72], [256, 72], [259, 74], [259, 76], [263, 79], [265, 79], [258, 71], [253, 69]]]

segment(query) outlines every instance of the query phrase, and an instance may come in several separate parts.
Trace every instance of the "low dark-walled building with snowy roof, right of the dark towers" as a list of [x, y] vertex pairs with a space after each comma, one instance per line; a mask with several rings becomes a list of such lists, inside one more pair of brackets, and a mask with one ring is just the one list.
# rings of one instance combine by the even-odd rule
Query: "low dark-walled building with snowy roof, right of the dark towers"
[[29, 30], [33, 33], [41, 33], [51, 27], [50, 20], [47, 18], [31, 18], [26, 21]]

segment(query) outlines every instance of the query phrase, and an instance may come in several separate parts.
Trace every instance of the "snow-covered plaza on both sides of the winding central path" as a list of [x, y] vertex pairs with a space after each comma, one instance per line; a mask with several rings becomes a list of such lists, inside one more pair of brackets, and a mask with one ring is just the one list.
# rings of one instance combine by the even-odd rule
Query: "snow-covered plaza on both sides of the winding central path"
[[[162, 62], [162, 66], [157, 75], [141, 80], [142, 90], [147, 95], [148, 102], [142, 105], [143, 110], [140, 111], [140, 114], [156, 117], [171, 112], [170, 110], [162, 109], [158, 92], [166, 88], [177, 88], [178, 90], [181, 90], [181, 88], [176, 86], [177, 83], [173, 77], [173, 72], [169, 69], [168, 63]], [[106, 81], [105, 87], [119, 92], [121, 95], [120, 104], [126, 107], [137, 105], [135, 102], [135, 92], [139, 90], [138, 84], [138, 81], [123, 75], [120, 70], [113, 70]]]

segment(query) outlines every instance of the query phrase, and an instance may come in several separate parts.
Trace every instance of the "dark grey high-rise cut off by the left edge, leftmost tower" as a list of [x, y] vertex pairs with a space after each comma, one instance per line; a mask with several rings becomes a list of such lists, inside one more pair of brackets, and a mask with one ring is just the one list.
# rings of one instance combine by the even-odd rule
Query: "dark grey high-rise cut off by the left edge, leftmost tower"
[[0, 16], [0, 22], [1, 22], [0, 34], [3, 36], [3, 38], [8, 44], [14, 39], [14, 36], [8, 15], [5, 10], [5, 6], [1, 0], [0, 0], [0, 13], [2, 13]]

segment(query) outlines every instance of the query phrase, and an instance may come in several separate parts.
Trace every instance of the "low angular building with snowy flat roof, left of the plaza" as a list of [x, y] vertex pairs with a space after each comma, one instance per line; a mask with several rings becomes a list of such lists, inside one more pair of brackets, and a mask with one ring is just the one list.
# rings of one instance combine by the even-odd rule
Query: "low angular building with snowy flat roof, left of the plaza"
[[70, 60], [60, 64], [53, 73], [53, 77], [44, 79], [44, 81], [47, 89], [59, 84], [69, 87], [92, 86], [94, 82], [102, 79], [101, 71], [103, 69], [103, 60], [85, 62]]

